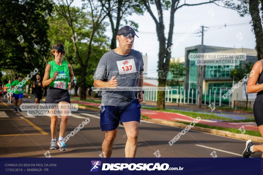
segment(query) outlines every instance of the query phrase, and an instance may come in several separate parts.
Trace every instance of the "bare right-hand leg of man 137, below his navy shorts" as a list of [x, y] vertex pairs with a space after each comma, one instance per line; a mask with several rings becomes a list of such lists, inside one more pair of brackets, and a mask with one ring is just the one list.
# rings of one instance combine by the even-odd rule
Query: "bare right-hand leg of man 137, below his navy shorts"
[[127, 142], [125, 145], [125, 157], [135, 157], [137, 151], [137, 140], [139, 133], [139, 122], [123, 122], [127, 134]]

